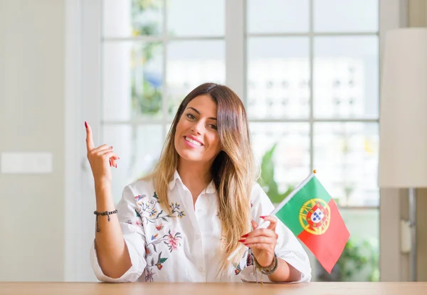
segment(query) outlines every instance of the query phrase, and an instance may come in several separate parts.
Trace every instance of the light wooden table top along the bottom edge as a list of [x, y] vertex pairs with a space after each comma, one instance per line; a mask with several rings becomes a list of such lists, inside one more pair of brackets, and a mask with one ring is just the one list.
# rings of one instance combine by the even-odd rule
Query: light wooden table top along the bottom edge
[[303, 284], [240, 284], [240, 283], [31, 283], [0, 282], [1, 295], [426, 295], [427, 283], [303, 283]]

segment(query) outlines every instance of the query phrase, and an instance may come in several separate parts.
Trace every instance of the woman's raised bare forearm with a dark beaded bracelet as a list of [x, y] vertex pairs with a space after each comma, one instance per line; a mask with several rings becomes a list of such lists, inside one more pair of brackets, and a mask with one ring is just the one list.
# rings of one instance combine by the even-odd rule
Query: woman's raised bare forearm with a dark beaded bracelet
[[[110, 184], [95, 183], [97, 212], [115, 210], [111, 191]], [[95, 230], [95, 247], [100, 268], [107, 277], [122, 277], [132, 263], [117, 214], [110, 215], [110, 222], [107, 215], [99, 215], [97, 219], [100, 231]]]

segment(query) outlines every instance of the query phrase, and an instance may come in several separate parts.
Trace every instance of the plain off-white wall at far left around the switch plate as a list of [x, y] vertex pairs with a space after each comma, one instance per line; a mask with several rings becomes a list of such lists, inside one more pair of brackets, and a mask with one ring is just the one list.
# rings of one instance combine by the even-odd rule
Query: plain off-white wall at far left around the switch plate
[[48, 151], [53, 173], [0, 174], [0, 281], [62, 281], [64, 1], [0, 0], [0, 153]]

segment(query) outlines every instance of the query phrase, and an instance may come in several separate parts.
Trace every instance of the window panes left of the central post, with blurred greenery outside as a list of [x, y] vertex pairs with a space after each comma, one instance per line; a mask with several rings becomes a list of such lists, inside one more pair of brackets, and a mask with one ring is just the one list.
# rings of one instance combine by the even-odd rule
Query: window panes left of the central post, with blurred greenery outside
[[226, 83], [225, 0], [102, 1], [101, 50], [102, 141], [123, 155], [118, 201], [158, 159], [185, 95]]

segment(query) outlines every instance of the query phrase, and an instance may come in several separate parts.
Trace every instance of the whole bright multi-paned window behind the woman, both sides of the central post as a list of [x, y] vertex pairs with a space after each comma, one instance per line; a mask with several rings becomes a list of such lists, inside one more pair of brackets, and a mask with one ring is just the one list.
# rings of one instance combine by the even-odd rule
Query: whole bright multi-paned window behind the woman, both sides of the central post
[[[373, 262], [365, 277], [317, 279], [377, 279], [378, 2], [103, 0], [101, 137], [122, 156], [115, 200], [158, 159], [184, 95], [202, 82], [233, 81], [258, 162], [275, 147], [278, 193], [316, 168], [360, 250], [339, 265], [357, 263], [354, 254]], [[238, 28], [243, 42], [227, 38]], [[241, 68], [226, 63], [233, 58]], [[370, 225], [362, 231], [361, 218]]]

